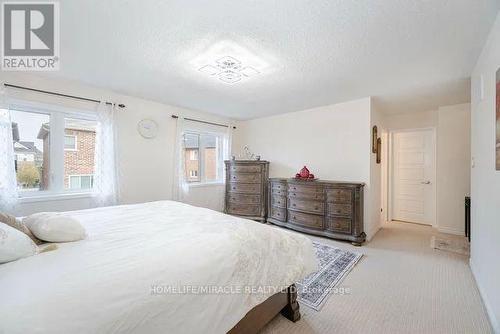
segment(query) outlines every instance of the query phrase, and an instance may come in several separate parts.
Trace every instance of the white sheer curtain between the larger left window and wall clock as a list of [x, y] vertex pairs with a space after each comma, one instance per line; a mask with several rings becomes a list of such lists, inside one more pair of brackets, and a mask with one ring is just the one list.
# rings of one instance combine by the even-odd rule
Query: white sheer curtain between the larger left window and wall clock
[[115, 116], [116, 106], [101, 102], [97, 109], [94, 195], [97, 206], [118, 202], [118, 172]]

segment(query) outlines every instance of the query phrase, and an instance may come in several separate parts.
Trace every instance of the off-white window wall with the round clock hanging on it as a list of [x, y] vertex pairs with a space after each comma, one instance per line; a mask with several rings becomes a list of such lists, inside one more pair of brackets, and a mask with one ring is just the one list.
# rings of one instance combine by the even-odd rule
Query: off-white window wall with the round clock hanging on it
[[[111, 91], [97, 89], [91, 86], [47, 79], [23, 73], [2, 72], [0, 82], [37, 89], [62, 92], [95, 99], [112, 100], [124, 103], [127, 108], [117, 116], [120, 202], [123, 204], [171, 199], [173, 170], [175, 119], [172, 114], [209, 120], [220, 123], [232, 123], [231, 120], [216, 117], [206, 113], [195, 112], [183, 108], [168, 106], [153, 101], [117, 94]], [[9, 89], [9, 96], [19, 99], [56, 104], [80, 109], [96, 107], [94, 103], [83, 103], [66, 98], [32, 92], [22, 92]], [[159, 124], [158, 136], [154, 139], [144, 139], [137, 132], [137, 123], [144, 118], [155, 120]], [[236, 130], [237, 131], [237, 130]], [[214, 195], [215, 191], [215, 195]], [[222, 210], [223, 186], [200, 187], [191, 193], [187, 201], [199, 206]], [[26, 215], [41, 210], [77, 210], [90, 207], [88, 199], [58, 199], [21, 204], [15, 212]]]

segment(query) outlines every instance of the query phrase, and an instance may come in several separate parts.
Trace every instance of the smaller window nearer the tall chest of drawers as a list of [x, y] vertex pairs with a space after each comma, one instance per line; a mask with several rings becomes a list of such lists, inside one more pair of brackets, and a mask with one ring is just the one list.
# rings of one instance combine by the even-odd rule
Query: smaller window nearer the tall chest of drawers
[[222, 182], [223, 136], [190, 131], [184, 134], [184, 173], [189, 183]]

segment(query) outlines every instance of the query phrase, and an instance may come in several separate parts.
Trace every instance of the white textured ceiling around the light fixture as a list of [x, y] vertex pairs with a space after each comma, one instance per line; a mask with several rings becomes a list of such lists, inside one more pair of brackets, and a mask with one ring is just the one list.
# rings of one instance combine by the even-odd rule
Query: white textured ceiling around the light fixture
[[[44, 75], [251, 119], [366, 96], [387, 113], [468, 102], [469, 77], [500, 1], [72, 0], [60, 6], [61, 70]], [[260, 73], [227, 84], [199, 72], [200, 57], [212, 61], [210, 50], [220, 43], [264, 64]]]

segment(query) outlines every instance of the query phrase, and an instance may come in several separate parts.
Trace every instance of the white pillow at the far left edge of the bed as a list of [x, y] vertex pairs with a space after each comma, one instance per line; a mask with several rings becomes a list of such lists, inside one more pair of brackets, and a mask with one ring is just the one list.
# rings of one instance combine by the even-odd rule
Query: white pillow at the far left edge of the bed
[[0, 263], [35, 255], [38, 248], [23, 232], [0, 223]]

